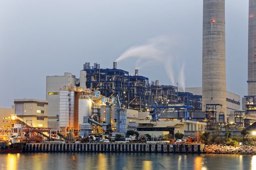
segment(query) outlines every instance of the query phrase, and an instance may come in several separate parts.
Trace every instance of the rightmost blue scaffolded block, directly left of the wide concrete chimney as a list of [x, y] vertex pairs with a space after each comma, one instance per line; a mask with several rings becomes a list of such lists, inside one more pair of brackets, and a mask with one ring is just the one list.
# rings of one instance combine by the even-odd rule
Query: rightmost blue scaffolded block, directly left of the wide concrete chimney
[[192, 93], [189, 93], [189, 92], [178, 92], [178, 103], [193, 106], [192, 108], [189, 108], [189, 110], [193, 110], [193, 111], [202, 110], [201, 95], [193, 95]]

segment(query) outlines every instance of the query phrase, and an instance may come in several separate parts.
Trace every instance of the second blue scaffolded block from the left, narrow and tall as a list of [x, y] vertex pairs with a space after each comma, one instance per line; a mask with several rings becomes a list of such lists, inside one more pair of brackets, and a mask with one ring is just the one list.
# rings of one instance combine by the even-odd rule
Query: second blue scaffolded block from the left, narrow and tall
[[149, 82], [144, 76], [129, 76], [128, 108], [145, 111], [149, 102]]

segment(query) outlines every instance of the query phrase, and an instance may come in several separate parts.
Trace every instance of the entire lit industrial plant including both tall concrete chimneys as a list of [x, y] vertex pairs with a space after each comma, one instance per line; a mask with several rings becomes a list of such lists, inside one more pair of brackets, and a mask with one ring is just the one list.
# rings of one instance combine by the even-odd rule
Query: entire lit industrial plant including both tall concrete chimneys
[[15, 99], [13, 109], [0, 108], [6, 113], [0, 137], [108, 143], [117, 136], [126, 140], [133, 131], [139, 136], [129, 136], [129, 142], [176, 134], [199, 142], [199, 133], [214, 131], [216, 124], [222, 136], [227, 125], [240, 135], [256, 124], [255, 0], [250, 0], [248, 37], [248, 95], [242, 102], [226, 89], [225, 0], [204, 0], [201, 87], [183, 91], [178, 85], [162, 85], [138, 69], [130, 73], [119, 68], [117, 62], [109, 68], [81, 63], [78, 77], [68, 72], [46, 76], [46, 100]]

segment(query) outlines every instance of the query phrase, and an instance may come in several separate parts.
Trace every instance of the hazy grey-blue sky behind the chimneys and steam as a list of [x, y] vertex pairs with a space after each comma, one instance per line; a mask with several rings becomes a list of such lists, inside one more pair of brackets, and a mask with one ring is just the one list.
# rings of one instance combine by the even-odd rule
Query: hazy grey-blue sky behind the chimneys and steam
[[[247, 94], [248, 3], [226, 0], [227, 90], [241, 96]], [[79, 77], [85, 62], [112, 68], [124, 51], [159, 36], [172, 43], [175, 81], [184, 67], [185, 86], [200, 87], [202, 6], [203, 0], [0, 0], [0, 107], [45, 100], [47, 75]], [[141, 67], [139, 75], [172, 85], [163, 63]], [[136, 58], [118, 68], [134, 74]]]

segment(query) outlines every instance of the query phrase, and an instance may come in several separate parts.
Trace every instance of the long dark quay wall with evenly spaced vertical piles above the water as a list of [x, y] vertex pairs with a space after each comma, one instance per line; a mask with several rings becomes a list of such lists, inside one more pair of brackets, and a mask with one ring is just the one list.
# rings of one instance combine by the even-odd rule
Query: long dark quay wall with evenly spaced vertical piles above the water
[[202, 153], [202, 144], [27, 143], [24, 153]]

